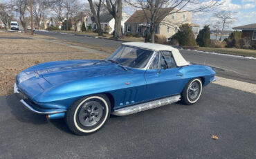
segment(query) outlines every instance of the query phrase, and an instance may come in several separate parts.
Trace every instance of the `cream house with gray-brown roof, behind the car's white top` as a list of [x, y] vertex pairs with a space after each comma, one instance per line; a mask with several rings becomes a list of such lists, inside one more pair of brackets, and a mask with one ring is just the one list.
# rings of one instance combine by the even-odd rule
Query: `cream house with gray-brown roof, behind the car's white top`
[[[181, 24], [190, 24], [195, 37], [199, 33], [200, 26], [192, 24], [191, 12], [185, 10], [178, 12], [177, 8], [161, 8], [156, 13], [156, 17], [158, 17], [158, 21], [156, 21], [155, 32], [158, 35], [164, 35], [167, 41], [178, 32]], [[150, 10], [136, 10], [125, 22], [125, 35], [145, 36], [147, 19], [151, 19]]]

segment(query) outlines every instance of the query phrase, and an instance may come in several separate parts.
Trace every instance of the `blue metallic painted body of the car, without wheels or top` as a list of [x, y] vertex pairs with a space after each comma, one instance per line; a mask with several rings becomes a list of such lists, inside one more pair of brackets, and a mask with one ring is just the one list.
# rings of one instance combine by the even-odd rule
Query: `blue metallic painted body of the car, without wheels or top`
[[120, 109], [180, 94], [194, 77], [201, 77], [206, 86], [215, 74], [212, 68], [201, 65], [170, 68], [160, 73], [158, 70], [127, 69], [99, 60], [46, 62], [19, 73], [16, 84], [41, 111], [68, 109], [80, 97], [97, 93], [109, 93], [114, 100], [113, 109]]

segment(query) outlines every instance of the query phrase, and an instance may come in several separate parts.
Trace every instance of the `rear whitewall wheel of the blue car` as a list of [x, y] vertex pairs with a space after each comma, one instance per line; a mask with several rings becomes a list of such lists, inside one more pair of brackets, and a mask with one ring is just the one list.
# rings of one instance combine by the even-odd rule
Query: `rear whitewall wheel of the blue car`
[[196, 103], [201, 96], [202, 88], [203, 86], [201, 79], [190, 79], [190, 81], [183, 88], [183, 92], [181, 93], [181, 101], [187, 105]]

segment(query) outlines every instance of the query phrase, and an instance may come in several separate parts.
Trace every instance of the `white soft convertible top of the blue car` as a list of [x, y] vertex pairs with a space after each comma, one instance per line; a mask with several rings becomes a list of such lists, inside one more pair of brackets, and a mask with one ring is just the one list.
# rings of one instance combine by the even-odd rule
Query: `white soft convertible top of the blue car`
[[172, 46], [161, 45], [161, 44], [152, 44], [152, 43], [143, 43], [143, 42], [126, 42], [126, 43], [122, 43], [122, 44], [127, 45], [127, 46], [134, 46], [134, 47], [138, 47], [138, 48], [146, 48], [146, 49], [155, 50], [155, 51], [159, 51], [159, 50], [172, 51], [172, 55], [174, 57], [174, 60], [175, 60], [177, 66], [187, 66], [190, 64], [183, 58], [183, 56], [181, 55], [179, 50], [176, 48], [173, 48]]

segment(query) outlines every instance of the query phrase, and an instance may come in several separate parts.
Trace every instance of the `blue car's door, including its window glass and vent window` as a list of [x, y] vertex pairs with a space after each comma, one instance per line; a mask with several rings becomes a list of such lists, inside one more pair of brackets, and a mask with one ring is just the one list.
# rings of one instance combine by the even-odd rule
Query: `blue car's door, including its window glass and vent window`
[[179, 70], [171, 51], [158, 51], [145, 72], [148, 99], [181, 93], [183, 74]]

